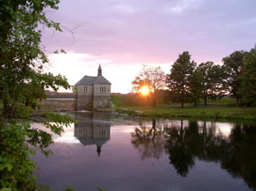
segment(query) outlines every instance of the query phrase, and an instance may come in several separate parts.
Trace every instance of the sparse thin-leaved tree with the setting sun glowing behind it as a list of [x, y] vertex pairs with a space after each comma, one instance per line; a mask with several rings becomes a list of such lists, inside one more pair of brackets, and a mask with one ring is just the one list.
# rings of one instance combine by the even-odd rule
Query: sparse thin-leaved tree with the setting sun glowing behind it
[[149, 88], [153, 107], [157, 106], [158, 91], [166, 86], [166, 75], [161, 67], [144, 65], [139, 76], [132, 81], [132, 91], [140, 92], [142, 87]]

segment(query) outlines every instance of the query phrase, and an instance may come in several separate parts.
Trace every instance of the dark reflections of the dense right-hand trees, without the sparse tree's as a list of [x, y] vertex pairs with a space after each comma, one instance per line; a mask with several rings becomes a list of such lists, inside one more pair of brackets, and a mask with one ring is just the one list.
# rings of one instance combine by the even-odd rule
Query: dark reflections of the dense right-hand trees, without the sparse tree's
[[199, 127], [189, 121], [189, 126], [169, 129], [166, 151], [170, 163], [185, 177], [197, 157], [203, 161], [220, 162], [221, 168], [233, 177], [243, 178], [249, 187], [256, 188], [256, 127], [235, 125], [229, 137], [217, 133], [215, 123]]

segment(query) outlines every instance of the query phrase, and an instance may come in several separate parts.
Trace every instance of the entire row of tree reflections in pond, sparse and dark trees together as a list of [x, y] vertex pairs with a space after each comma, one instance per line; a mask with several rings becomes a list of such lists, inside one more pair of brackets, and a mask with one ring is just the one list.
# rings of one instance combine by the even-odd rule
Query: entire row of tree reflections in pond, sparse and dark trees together
[[[219, 162], [221, 168], [233, 177], [242, 178], [256, 190], [256, 127], [236, 124], [229, 136], [224, 136], [215, 122], [183, 120], [179, 125], [157, 127], [141, 125], [132, 133], [132, 145], [139, 150], [141, 159], [159, 158], [164, 150], [176, 172], [185, 177], [194, 166], [194, 160]], [[168, 135], [167, 138], [164, 135]]]

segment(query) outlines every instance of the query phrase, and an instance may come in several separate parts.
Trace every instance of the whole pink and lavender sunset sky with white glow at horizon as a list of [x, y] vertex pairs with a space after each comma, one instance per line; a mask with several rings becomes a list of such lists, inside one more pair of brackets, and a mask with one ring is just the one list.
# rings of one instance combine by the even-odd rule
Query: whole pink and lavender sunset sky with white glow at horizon
[[[47, 15], [64, 26], [44, 29], [47, 70], [74, 85], [101, 64], [112, 92], [130, 92], [143, 64], [168, 73], [183, 51], [197, 63], [221, 63], [256, 43], [255, 0], [62, 0]], [[61, 48], [67, 54], [50, 53]]]

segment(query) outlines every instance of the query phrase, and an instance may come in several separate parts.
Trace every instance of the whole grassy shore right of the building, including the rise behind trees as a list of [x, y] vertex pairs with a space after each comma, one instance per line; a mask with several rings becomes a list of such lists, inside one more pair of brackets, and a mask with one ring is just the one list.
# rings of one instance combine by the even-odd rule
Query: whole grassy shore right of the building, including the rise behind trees
[[151, 105], [149, 97], [138, 94], [112, 95], [112, 101], [118, 112], [148, 117], [194, 118], [199, 120], [256, 120], [256, 108], [236, 107], [235, 98], [209, 99], [208, 105], [204, 105], [204, 100], [201, 99], [196, 107], [187, 103], [181, 108], [179, 103], [166, 104], [164, 95], [164, 92], [159, 94], [157, 107]]

